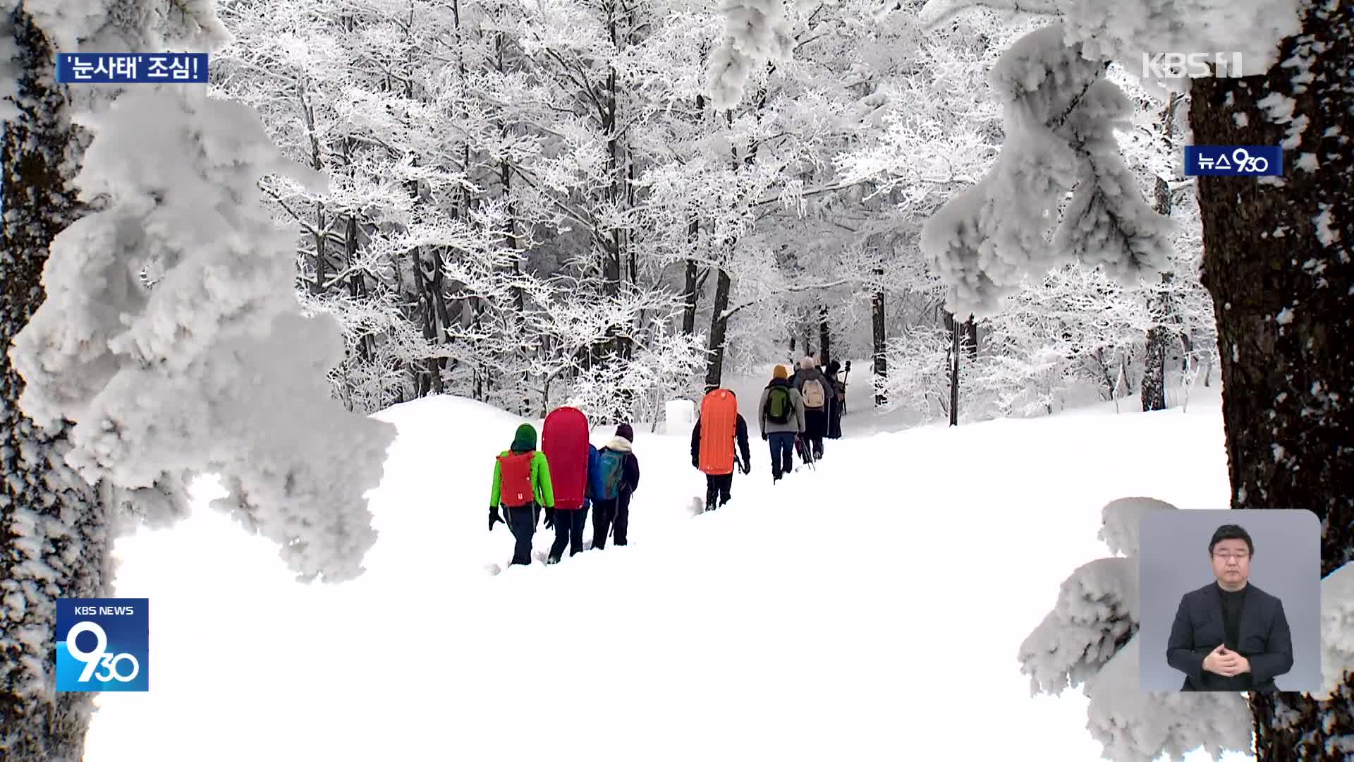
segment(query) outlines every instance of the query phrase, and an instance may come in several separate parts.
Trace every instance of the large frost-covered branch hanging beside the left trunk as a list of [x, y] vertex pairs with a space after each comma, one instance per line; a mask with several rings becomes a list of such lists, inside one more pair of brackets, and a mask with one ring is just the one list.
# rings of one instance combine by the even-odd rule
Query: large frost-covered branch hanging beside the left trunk
[[[12, 351], [20, 404], [76, 422], [66, 460], [91, 483], [222, 473], [298, 575], [349, 579], [394, 431], [329, 399], [338, 325], [302, 317], [291, 236], [263, 213], [257, 178], [305, 169], [253, 108], [203, 89], [127, 92], [97, 119], [76, 184], [110, 203], [51, 244], [47, 300]], [[150, 263], [153, 289], [135, 277]]]

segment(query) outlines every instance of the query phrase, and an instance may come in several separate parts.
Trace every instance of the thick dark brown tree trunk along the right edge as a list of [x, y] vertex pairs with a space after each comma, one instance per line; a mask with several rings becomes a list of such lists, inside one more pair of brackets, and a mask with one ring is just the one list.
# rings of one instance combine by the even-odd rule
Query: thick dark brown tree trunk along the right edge
[[[1280, 145], [1292, 125], [1257, 104], [1271, 94], [1305, 122], [1282, 186], [1200, 178], [1198, 199], [1232, 507], [1316, 513], [1324, 576], [1354, 557], [1354, 14], [1349, 3], [1305, 14], [1266, 75], [1196, 79], [1190, 125], [1201, 145]], [[1315, 160], [1300, 168], [1303, 155]], [[1354, 675], [1328, 701], [1252, 693], [1251, 708], [1257, 759], [1338, 759], [1327, 744], [1354, 736]]]

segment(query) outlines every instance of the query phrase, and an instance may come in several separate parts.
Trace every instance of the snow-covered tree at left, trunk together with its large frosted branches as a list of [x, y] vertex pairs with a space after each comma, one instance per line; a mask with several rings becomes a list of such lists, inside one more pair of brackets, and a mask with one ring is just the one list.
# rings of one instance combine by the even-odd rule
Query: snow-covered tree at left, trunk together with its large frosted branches
[[213, 3], [9, 12], [0, 751], [73, 761], [89, 701], [54, 693], [54, 601], [107, 595], [123, 517], [169, 522], [185, 476], [221, 473], [301, 576], [347, 579], [394, 431], [328, 400], [341, 336], [301, 315], [291, 237], [257, 194], [280, 168], [257, 114], [200, 85], [53, 81], [57, 52], [215, 47]]

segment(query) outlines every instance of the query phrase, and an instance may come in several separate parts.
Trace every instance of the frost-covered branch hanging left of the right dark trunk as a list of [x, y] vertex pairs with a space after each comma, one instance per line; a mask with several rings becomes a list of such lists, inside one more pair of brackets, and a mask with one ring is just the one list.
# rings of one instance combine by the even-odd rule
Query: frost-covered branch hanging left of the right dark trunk
[[922, 229], [952, 312], [995, 315], [1021, 278], [1064, 262], [1099, 264], [1132, 285], [1170, 256], [1170, 221], [1145, 202], [1113, 137], [1132, 104], [1102, 79], [1104, 61], [1064, 46], [1063, 34], [1041, 28], [998, 61], [990, 83], [1006, 103], [1006, 145], [988, 175]]

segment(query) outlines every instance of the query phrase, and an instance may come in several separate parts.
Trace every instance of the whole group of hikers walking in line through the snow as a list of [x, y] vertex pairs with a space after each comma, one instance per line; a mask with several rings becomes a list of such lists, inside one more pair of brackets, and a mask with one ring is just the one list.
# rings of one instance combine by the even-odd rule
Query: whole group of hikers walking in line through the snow
[[[793, 373], [784, 365], [772, 370], [757, 409], [762, 441], [770, 446], [773, 484], [793, 470], [796, 452], [811, 465], [822, 460], [825, 438], [841, 438], [846, 384], [838, 378], [839, 370], [838, 362], [823, 369], [812, 357], [800, 359]], [[508, 525], [516, 540], [512, 564], [531, 564], [532, 536], [542, 514], [546, 529], [555, 530], [547, 564], [559, 563], [565, 548], [570, 556], [582, 552], [589, 510], [594, 549], [605, 548], [611, 533], [616, 545], [626, 545], [630, 500], [639, 487], [634, 428], [621, 423], [600, 450], [588, 438], [584, 412], [562, 407], [546, 416], [540, 450], [536, 428], [523, 423], [512, 446], [496, 460], [489, 530], [500, 522]], [[701, 400], [691, 431], [691, 465], [705, 475], [707, 511], [728, 503], [735, 468], [751, 473], [747, 423], [733, 390], [712, 389]]]

